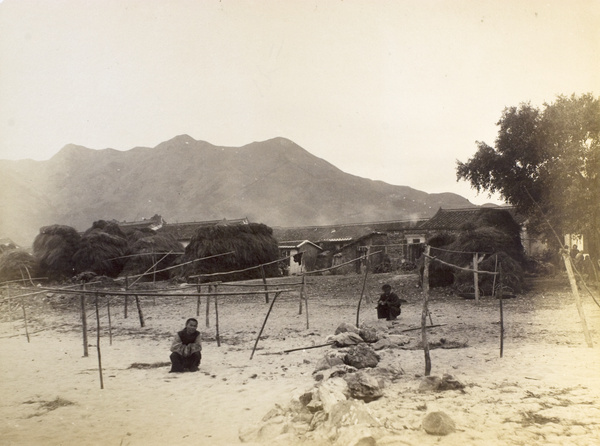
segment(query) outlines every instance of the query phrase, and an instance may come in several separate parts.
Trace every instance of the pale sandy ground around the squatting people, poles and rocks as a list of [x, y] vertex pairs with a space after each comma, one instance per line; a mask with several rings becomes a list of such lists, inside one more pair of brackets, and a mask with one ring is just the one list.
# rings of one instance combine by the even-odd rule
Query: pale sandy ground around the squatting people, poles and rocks
[[[104, 389], [100, 388], [93, 297], [87, 306], [87, 357], [77, 297], [44, 294], [29, 299], [30, 342], [21, 308], [13, 302], [9, 313], [4, 302], [0, 307], [0, 444], [240, 444], [240, 429], [258, 425], [276, 404], [285, 406], [294, 393], [315, 385], [315, 364], [333, 348], [283, 351], [323, 344], [340, 323], [356, 321], [361, 276], [307, 281], [310, 328], [306, 310], [298, 314], [299, 293], [282, 294], [253, 359], [252, 347], [269, 308], [264, 295], [219, 300], [220, 347], [214, 306], [206, 327], [203, 299], [198, 317], [204, 345], [201, 369], [178, 375], [168, 373], [169, 345], [185, 319], [196, 316], [196, 298], [142, 298], [143, 328], [135, 305], [130, 301], [124, 318], [122, 298], [114, 298], [111, 344], [106, 300], [101, 297]], [[420, 326], [422, 294], [413, 275], [370, 276], [361, 322], [375, 320], [374, 302], [386, 282], [408, 300], [395, 328]], [[431, 374], [450, 373], [466, 387], [419, 392], [425, 363], [423, 351], [414, 345], [420, 330], [407, 331], [414, 343], [379, 352], [382, 362], [404, 371], [401, 379], [385, 388], [383, 398], [368, 403], [389, 431], [381, 444], [600, 444], [600, 308], [582, 292], [595, 342], [588, 348], [566, 278], [547, 283], [538, 281], [531, 291], [504, 301], [503, 357], [496, 299], [476, 303], [434, 290], [431, 320], [442, 326], [429, 331], [429, 340], [443, 338], [464, 347], [432, 349]], [[456, 432], [436, 437], [422, 429], [423, 417], [437, 410], [453, 418]]]

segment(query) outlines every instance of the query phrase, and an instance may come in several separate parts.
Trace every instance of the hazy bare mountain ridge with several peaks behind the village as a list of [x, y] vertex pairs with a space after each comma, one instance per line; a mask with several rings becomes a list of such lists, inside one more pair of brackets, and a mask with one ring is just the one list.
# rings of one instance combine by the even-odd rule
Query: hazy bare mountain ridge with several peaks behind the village
[[154, 148], [69, 144], [48, 161], [0, 160], [0, 237], [30, 245], [41, 226], [78, 230], [96, 220], [169, 223], [248, 217], [269, 226], [402, 220], [472, 207], [342, 172], [294, 142], [218, 147], [180, 135]]

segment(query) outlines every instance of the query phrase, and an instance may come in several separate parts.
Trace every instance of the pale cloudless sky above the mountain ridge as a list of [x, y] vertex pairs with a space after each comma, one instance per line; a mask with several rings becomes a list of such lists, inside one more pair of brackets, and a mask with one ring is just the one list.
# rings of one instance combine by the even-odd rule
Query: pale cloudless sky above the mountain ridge
[[600, 0], [3, 0], [0, 159], [288, 138], [474, 204], [505, 107], [600, 94]]

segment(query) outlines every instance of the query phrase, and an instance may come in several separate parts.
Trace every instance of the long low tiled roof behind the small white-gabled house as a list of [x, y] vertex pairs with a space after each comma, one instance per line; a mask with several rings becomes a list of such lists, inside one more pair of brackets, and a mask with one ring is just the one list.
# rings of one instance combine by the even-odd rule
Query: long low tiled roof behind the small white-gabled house
[[273, 236], [277, 240], [310, 240], [314, 243], [323, 241], [349, 241], [374, 232], [393, 232], [416, 228], [423, 221], [425, 220], [394, 220], [292, 228], [274, 226]]

